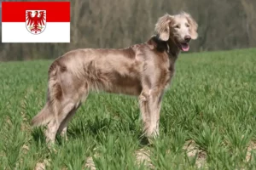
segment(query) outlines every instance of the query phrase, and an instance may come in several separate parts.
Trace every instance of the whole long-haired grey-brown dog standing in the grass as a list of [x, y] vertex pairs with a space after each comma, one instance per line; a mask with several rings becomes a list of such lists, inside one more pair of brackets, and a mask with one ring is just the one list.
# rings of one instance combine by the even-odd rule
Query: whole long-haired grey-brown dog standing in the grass
[[174, 74], [180, 51], [197, 38], [197, 24], [187, 13], [165, 14], [155, 25], [156, 35], [129, 48], [76, 49], [49, 67], [47, 102], [32, 125], [48, 124], [46, 139], [65, 134], [81, 103], [92, 90], [136, 95], [148, 137], [159, 134], [161, 99]]

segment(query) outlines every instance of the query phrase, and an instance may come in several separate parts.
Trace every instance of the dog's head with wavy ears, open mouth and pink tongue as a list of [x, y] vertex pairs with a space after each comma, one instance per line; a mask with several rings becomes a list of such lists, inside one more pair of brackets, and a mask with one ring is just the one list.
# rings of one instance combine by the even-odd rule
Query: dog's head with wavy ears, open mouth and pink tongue
[[155, 25], [155, 31], [160, 40], [172, 40], [182, 51], [189, 51], [190, 40], [198, 36], [197, 23], [185, 12], [160, 17]]

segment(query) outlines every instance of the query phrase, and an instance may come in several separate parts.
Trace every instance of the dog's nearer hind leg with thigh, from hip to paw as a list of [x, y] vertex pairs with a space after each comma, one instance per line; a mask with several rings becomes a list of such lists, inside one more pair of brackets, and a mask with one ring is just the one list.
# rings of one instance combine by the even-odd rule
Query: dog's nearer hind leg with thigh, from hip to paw
[[61, 61], [53, 63], [49, 68], [48, 100], [53, 118], [45, 132], [47, 142], [55, 141], [59, 129], [67, 130], [67, 122], [88, 94], [89, 84], [84, 81], [84, 77], [79, 76]]

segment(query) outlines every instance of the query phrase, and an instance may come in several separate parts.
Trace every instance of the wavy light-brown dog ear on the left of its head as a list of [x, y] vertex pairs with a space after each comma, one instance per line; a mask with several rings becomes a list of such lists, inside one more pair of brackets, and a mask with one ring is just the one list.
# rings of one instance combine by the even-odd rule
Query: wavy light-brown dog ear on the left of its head
[[167, 41], [170, 37], [170, 22], [172, 21], [172, 16], [170, 14], [165, 14], [160, 17], [155, 24], [154, 31], [162, 41]]

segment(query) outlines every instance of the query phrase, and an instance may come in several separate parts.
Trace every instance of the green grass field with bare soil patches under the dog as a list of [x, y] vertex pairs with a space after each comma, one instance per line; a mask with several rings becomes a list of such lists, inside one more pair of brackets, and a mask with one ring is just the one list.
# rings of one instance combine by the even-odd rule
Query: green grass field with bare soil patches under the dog
[[256, 169], [256, 48], [181, 54], [150, 145], [137, 98], [90, 94], [49, 150], [29, 122], [51, 62], [0, 63], [0, 169]]

